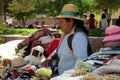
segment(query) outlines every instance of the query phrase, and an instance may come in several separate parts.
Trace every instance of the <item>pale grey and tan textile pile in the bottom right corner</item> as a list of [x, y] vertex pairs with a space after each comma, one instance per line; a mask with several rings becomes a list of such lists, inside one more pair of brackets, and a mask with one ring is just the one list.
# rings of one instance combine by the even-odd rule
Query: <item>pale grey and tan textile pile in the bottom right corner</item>
[[86, 74], [80, 80], [119, 80], [120, 79], [120, 55], [113, 56], [107, 62]]

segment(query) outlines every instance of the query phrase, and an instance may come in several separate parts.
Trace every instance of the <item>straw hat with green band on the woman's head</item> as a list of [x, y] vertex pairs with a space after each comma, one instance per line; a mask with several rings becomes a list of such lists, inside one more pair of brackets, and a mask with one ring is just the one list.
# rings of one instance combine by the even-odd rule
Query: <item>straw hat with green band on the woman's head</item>
[[63, 6], [60, 14], [56, 18], [73, 18], [80, 20], [79, 11], [77, 7], [73, 4], [66, 4]]

